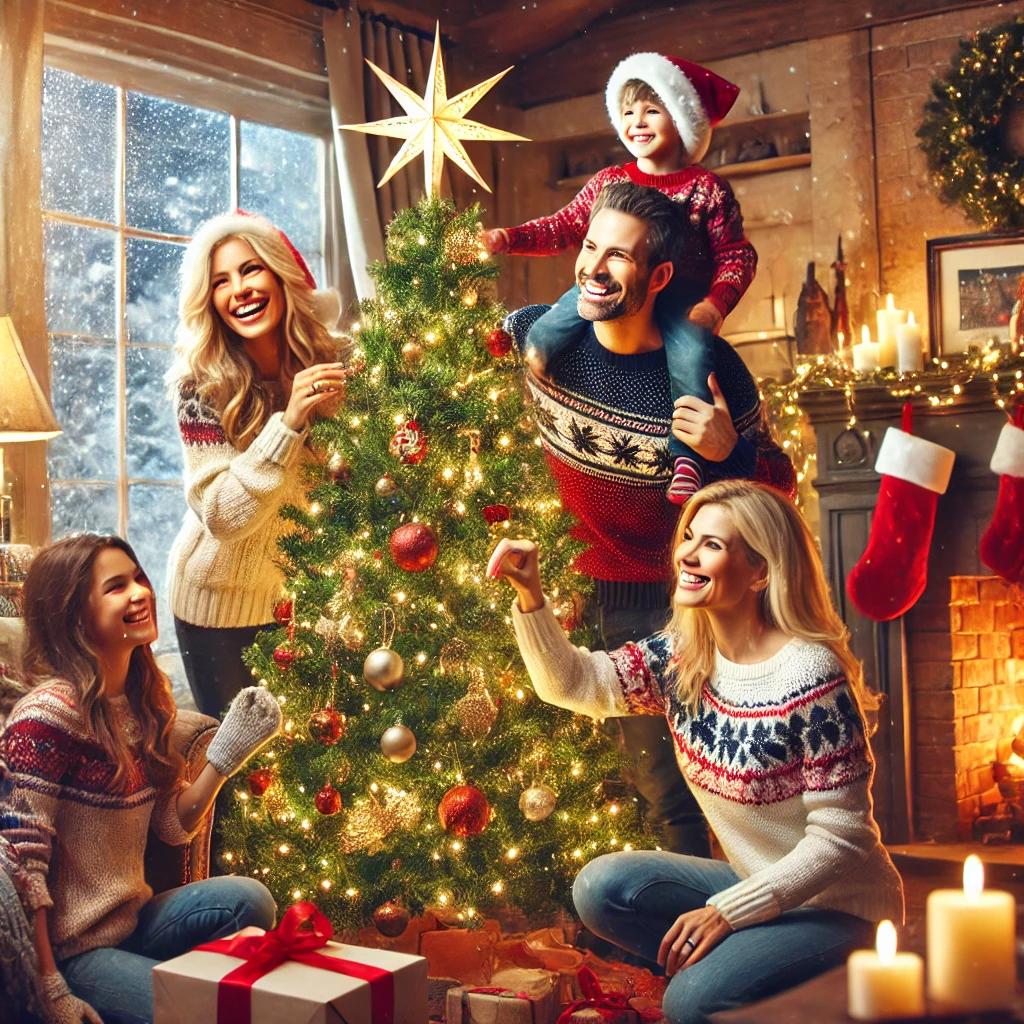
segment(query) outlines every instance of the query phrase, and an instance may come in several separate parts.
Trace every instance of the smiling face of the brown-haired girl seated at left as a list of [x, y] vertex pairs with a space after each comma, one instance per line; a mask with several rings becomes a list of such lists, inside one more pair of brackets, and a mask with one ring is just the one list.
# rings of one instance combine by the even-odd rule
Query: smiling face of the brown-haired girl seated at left
[[133, 650], [157, 639], [153, 588], [120, 548], [103, 548], [92, 563], [85, 602], [86, 633], [103, 651]]

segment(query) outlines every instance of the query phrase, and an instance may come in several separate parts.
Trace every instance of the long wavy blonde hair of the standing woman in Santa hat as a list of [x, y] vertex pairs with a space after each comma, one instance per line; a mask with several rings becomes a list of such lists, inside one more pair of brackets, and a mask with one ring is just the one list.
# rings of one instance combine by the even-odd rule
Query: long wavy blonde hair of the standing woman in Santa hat
[[[286, 394], [300, 370], [339, 358], [342, 347], [342, 339], [318, 319], [313, 292], [278, 231], [261, 229], [262, 218], [252, 219], [251, 229], [232, 230], [217, 239], [205, 259], [183, 264], [174, 346], [177, 359], [168, 374], [172, 386], [193, 388], [214, 410], [225, 436], [241, 450], [249, 446], [274, 412], [273, 398], [242, 340], [213, 307], [210, 268], [214, 251], [231, 239], [247, 242], [281, 282], [287, 341], [281, 383]], [[322, 411], [327, 412], [323, 407]]]

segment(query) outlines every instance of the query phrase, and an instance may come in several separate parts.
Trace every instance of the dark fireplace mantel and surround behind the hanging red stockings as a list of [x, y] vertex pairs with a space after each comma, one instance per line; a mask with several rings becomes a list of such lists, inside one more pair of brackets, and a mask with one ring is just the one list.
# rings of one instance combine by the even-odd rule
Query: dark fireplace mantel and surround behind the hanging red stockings
[[[937, 838], [946, 829], [946, 823], [932, 820], [933, 798], [914, 765], [927, 760], [931, 766], [936, 751], [951, 759], [961, 738], [952, 724], [939, 728], [925, 716], [956, 700], [951, 578], [989, 575], [978, 542], [995, 507], [998, 478], [989, 470], [989, 460], [1007, 421], [989, 380], [957, 385], [954, 393], [953, 378], [946, 389], [937, 375], [928, 377], [929, 391], [947, 390], [948, 398], [936, 404], [924, 390], [909, 397], [894, 395], [896, 388], [881, 383], [853, 384], [849, 399], [842, 387], [811, 387], [800, 395], [817, 442], [813, 483], [825, 569], [866, 681], [884, 698], [872, 742], [879, 764], [876, 813], [889, 843], [905, 843], [915, 835]], [[889, 427], [899, 428], [906, 400], [913, 404], [913, 432], [951, 449], [956, 460], [949, 487], [939, 499], [924, 595], [900, 618], [873, 623], [853, 606], [845, 584], [868, 540], [879, 494], [873, 469], [879, 446]], [[951, 712], [949, 718], [951, 723]], [[950, 768], [950, 786], [956, 784], [952, 775]], [[955, 801], [952, 806], [954, 819]], [[956, 821], [947, 824], [951, 837]]]

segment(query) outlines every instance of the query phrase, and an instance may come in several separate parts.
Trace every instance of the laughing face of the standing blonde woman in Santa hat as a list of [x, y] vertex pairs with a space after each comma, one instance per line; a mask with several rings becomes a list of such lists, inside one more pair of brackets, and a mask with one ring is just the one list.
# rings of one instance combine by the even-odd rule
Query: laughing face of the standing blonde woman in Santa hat
[[275, 331], [285, 314], [281, 282], [244, 239], [228, 239], [210, 261], [213, 308], [245, 341]]

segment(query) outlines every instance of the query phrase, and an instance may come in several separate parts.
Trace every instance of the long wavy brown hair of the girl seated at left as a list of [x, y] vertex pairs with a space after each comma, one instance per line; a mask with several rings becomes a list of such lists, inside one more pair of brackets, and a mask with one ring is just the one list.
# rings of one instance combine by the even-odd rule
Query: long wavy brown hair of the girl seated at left
[[33, 684], [60, 679], [75, 688], [83, 719], [117, 766], [113, 792], [123, 793], [130, 786], [136, 756], [141, 758], [150, 782], [165, 788], [181, 776], [184, 761], [171, 746], [171, 729], [177, 717], [171, 684], [148, 644], [132, 651], [125, 686], [142, 734], [137, 754], [117, 727], [106, 701], [100, 699], [98, 652], [88, 635], [86, 604], [93, 562], [106, 548], [119, 548], [139, 564], [127, 541], [95, 534], [56, 541], [33, 559], [24, 591], [25, 671]]

